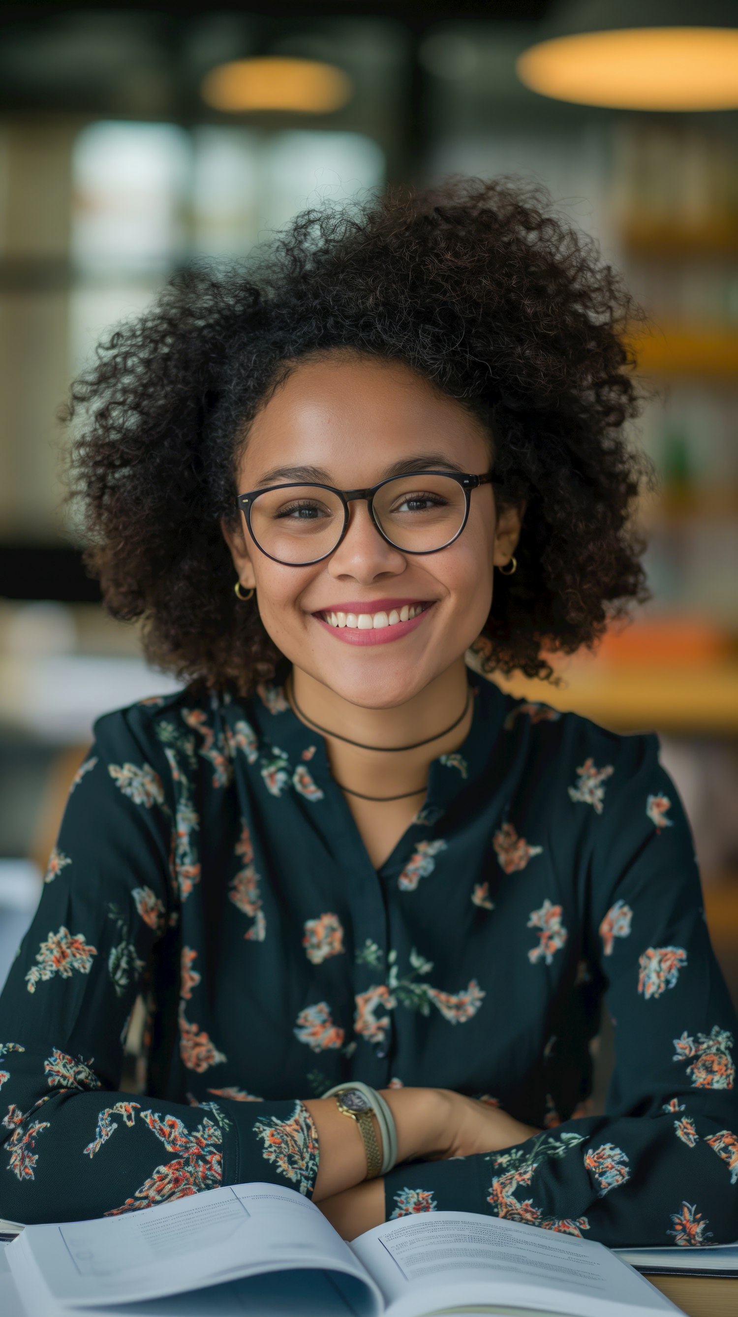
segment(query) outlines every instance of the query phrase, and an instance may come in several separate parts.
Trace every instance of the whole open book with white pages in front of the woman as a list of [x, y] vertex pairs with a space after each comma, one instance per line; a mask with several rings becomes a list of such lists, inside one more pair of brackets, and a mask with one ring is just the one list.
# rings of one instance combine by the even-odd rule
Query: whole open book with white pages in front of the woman
[[425, 1212], [346, 1243], [295, 1189], [235, 1184], [5, 1249], [28, 1317], [655, 1317], [680, 1312], [601, 1243]]

